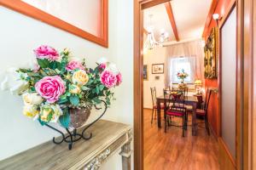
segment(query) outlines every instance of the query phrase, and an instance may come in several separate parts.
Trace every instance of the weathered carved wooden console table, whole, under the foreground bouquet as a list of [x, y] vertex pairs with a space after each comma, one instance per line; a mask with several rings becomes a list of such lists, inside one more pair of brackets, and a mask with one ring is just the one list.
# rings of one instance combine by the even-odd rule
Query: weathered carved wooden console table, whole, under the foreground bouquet
[[100, 120], [88, 128], [93, 137], [73, 144], [68, 150], [67, 143], [40, 144], [0, 161], [0, 169], [6, 170], [95, 170], [102, 162], [121, 148], [123, 170], [131, 169], [131, 127], [118, 122]]

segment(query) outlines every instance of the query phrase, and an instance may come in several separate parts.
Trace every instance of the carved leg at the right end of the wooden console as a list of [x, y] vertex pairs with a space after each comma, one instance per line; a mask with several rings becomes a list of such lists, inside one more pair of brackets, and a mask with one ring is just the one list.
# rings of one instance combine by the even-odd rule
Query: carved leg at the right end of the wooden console
[[131, 170], [131, 141], [122, 146], [122, 170]]

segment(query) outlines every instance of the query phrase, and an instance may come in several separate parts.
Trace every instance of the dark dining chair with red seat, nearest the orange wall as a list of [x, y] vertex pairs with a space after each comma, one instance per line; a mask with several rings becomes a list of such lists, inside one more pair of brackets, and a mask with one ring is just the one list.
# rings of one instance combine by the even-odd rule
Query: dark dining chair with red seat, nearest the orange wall
[[203, 116], [205, 120], [205, 127], [207, 129], [208, 135], [210, 135], [209, 122], [208, 122], [208, 106], [211, 99], [212, 89], [207, 89], [206, 99], [202, 109], [196, 109], [196, 115]]

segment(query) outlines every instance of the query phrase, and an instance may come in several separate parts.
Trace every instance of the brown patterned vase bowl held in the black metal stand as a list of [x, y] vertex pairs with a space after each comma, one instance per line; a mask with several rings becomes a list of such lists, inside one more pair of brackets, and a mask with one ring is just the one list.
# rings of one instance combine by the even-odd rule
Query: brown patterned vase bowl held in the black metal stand
[[69, 109], [71, 127], [82, 127], [90, 116], [91, 107], [81, 109]]

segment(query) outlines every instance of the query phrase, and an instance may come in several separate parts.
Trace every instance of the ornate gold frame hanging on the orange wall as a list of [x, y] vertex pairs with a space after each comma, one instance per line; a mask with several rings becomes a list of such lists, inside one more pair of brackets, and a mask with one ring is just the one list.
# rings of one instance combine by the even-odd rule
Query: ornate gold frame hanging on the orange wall
[[205, 51], [205, 78], [217, 78], [217, 47], [218, 47], [218, 29], [212, 28], [210, 36], [207, 38]]

